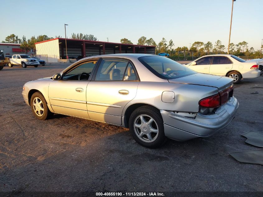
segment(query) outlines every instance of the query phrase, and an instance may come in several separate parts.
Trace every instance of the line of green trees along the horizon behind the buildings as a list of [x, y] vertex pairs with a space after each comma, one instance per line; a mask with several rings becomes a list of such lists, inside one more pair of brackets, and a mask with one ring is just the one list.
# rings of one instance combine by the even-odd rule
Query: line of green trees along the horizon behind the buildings
[[[61, 38], [61, 36], [55, 36], [55, 38]], [[73, 33], [71, 34], [72, 39], [78, 39], [78, 40], [94, 40], [98, 41], [98, 39], [92, 35], [92, 34], [82, 34], [82, 33]], [[22, 39], [18, 38], [17, 35], [11, 34], [5, 38], [3, 43], [16, 43], [21, 44], [20, 48], [24, 51], [35, 51], [35, 43], [41, 42], [45, 40], [54, 39], [53, 37], [48, 37], [47, 35], [38, 35], [38, 36], [32, 36], [30, 39], [26, 39], [26, 37], [23, 35]], [[129, 39], [122, 38], [120, 40], [121, 43], [124, 44], [133, 44]], [[217, 40], [214, 42], [214, 44], [210, 41], [207, 43], [201, 42], [201, 41], [195, 41], [192, 43], [190, 48], [187, 46], [182, 47], [174, 47], [173, 40], [167, 40], [165, 38], [162, 38], [162, 40], [157, 44], [153, 38], [147, 39], [145, 36], [141, 36], [138, 39], [137, 45], [148, 45], [148, 46], [155, 46], [155, 54], [159, 53], [168, 53], [170, 56], [203, 56], [203, 55], [209, 55], [209, 54], [226, 54], [225, 49], [227, 47], [225, 45], [222, 45], [222, 42], [220, 40]], [[261, 46], [261, 50], [263, 48], [263, 45]], [[239, 42], [237, 44], [230, 43], [229, 45], [229, 54], [237, 55], [237, 56], [260, 56], [261, 50], [255, 50], [253, 47], [248, 47], [248, 43], [246, 41]]]

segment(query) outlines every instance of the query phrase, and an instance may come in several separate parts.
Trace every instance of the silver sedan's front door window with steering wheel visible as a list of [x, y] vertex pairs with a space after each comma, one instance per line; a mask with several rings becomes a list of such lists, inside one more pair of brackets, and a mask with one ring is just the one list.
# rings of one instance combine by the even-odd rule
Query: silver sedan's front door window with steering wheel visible
[[89, 80], [92, 70], [95, 68], [97, 60], [92, 60], [79, 64], [77, 67], [69, 70], [63, 75], [64, 80], [78, 80], [80, 74], [83, 75], [82, 80]]

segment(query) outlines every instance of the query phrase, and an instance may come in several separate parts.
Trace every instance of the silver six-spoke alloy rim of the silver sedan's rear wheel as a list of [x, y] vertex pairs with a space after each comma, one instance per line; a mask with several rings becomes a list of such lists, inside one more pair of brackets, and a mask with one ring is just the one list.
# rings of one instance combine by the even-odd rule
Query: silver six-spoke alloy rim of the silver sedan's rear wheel
[[158, 137], [159, 129], [156, 121], [149, 115], [139, 115], [134, 120], [134, 131], [143, 142], [153, 142]]

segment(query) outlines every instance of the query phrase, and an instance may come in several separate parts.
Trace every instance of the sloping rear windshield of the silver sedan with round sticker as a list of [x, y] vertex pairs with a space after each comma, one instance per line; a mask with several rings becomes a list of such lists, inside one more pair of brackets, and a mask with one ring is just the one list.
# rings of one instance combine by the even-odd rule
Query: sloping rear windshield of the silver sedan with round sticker
[[196, 73], [190, 68], [162, 56], [145, 56], [138, 59], [153, 74], [162, 79], [175, 79]]

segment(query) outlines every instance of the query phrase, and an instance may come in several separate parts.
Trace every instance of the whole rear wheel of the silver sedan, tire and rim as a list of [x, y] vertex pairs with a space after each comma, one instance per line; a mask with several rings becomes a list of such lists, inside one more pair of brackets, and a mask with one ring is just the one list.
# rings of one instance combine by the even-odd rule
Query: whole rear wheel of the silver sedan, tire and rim
[[165, 140], [160, 111], [150, 106], [133, 111], [129, 118], [129, 130], [134, 140], [147, 148], [157, 148]]

